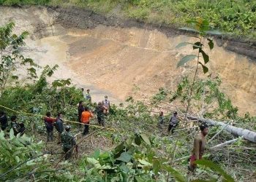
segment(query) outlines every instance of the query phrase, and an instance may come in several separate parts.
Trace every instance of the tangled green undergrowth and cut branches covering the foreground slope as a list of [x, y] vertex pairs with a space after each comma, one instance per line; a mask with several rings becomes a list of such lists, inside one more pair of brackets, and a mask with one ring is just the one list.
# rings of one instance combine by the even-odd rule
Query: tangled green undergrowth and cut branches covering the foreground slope
[[[48, 77], [53, 75], [58, 68], [57, 65], [52, 68], [41, 68], [34, 64], [33, 60], [23, 58], [18, 47], [25, 45], [26, 36], [24, 33], [20, 36], [13, 35], [13, 26], [14, 24], [10, 23], [0, 28], [0, 73], [5, 74], [8, 71], [8, 75], [2, 75], [3, 79], [0, 80], [0, 85], [4, 85], [0, 90], [0, 107], [8, 116], [17, 114], [19, 122], [24, 122], [27, 130], [26, 135], [17, 137], [10, 128], [0, 132], [1, 180], [252, 181], [255, 178], [255, 144], [240, 138], [230, 145], [211, 149], [212, 146], [234, 138], [225, 130], [219, 132], [222, 130], [221, 127], [212, 126], [208, 138], [214, 137], [214, 140], [208, 143], [204, 159], [197, 161], [199, 167], [196, 173], [191, 175], [187, 173], [187, 159], [197, 129], [190, 128], [190, 124], [197, 126], [197, 123], [189, 121], [188, 124], [181, 119], [176, 132], [171, 136], [165, 134], [165, 125], [157, 125], [159, 110], [165, 111], [167, 124], [170, 111], [175, 109], [178, 114], [184, 114], [189, 100], [192, 103], [189, 114], [211, 116], [219, 120], [232, 119], [237, 126], [256, 130], [256, 118], [249, 114], [239, 117], [238, 109], [224, 93], [220, 92], [219, 78], [211, 76], [192, 81], [185, 76], [176, 90], [162, 88], [149, 101], [136, 101], [129, 97], [124, 105], [113, 105], [106, 121], [106, 128], [99, 130], [91, 126], [89, 135], [78, 135], [78, 143], [83, 147], [83, 150], [80, 150], [80, 157], [74, 157], [69, 162], [62, 161], [61, 146], [56, 145], [56, 141], [52, 145], [42, 142], [45, 138], [42, 116], [47, 111], [53, 116], [61, 111], [64, 114], [64, 121], [72, 125], [72, 132], [78, 133], [80, 127], [73, 122], [77, 121], [77, 103], [84, 99], [83, 95], [80, 90], [70, 86], [70, 79], [48, 82]], [[211, 40], [208, 41], [209, 46], [213, 47]], [[201, 44], [192, 45], [197, 45], [196, 48], [203, 55]], [[204, 63], [205, 58], [203, 55]], [[28, 61], [23, 63], [24, 60]], [[17, 63], [32, 71], [29, 72], [30, 82], [16, 82], [22, 80], [15, 76], [14, 66]], [[37, 76], [34, 67], [42, 69], [40, 76]], [[194, 92], [191, 92], [191, 89]], [[94, 109], [94, 105], [89, 107]], [[91, 124], [95, 122], [94, 119], [91, 120]], [[217, 133], [218, 136], [215, 137]], [[89, 138], [94, 144], [103, 140], [105, 143], [112, 143], [110, 148], [102, 146], [99, 150], [94, 147], [93, 151], [89, 151]]]

